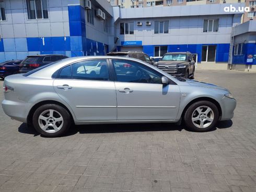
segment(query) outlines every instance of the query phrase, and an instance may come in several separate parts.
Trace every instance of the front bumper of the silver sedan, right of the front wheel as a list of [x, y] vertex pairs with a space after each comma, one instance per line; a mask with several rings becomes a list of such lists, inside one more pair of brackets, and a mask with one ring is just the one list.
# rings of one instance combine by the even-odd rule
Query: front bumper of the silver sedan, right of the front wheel
[[222, 117], [220, 121], [229, 120], [234, 117], [234, 110], [236, 109], [237, 101], [235, 99], [223, 97], [222, 98]]

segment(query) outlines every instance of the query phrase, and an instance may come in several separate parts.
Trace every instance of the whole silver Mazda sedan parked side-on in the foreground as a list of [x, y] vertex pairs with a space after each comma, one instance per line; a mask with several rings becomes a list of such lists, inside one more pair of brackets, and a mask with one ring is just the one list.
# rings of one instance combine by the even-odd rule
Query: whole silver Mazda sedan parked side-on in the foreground
[[4, 112], [48, 137], [71, 124], [184, 121], [208, 131], [234, 116], [236, 100], [222, 87], [174, 78], [134, 58], [66, 58], [4, 81]]

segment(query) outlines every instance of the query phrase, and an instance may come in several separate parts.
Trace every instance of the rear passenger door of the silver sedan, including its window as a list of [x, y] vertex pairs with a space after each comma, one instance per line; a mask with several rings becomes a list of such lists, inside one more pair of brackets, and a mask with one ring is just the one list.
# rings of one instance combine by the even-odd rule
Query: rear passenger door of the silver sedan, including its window
[[[95, 73], [99, 63], [99, 73]], [[77, 121], [117, 120], [115, 86], [110, 81], [106, 59], [91, 59], [65, 66], [53, 81], [53, 86], [72, 108]]]

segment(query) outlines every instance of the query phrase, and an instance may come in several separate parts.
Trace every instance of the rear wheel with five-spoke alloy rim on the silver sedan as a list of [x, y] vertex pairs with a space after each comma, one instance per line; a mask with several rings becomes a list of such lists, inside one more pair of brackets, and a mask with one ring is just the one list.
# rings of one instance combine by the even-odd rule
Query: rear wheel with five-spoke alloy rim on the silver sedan
[[45, 137], [59, 137], [71, 126], [71, 115], [57, 104], [44, 104], [34, 112], [33, 127]]

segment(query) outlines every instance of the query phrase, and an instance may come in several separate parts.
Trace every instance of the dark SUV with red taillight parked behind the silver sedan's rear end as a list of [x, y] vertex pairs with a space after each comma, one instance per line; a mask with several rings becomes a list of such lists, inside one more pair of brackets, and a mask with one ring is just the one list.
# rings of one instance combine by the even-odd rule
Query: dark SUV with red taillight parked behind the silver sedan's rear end
[[41, 67], [43, 65], [59, 61], [61, 59], [68, 58], [66, 55], [33, 55], [27, 56], [21, 62], [21, 68], [19, 73], [27, 73], [30, 70]]

